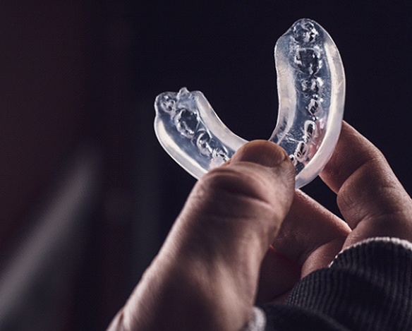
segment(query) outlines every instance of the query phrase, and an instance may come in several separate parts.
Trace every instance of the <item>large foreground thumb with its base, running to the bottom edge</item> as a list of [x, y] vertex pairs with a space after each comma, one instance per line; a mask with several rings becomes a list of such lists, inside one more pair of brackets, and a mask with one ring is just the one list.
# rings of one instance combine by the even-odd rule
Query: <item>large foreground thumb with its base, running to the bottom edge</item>
[[161, 251], [110, 330], [240, 330], [260, 263], [294, 192], [295, 169], [254, 141], [196, 183]]

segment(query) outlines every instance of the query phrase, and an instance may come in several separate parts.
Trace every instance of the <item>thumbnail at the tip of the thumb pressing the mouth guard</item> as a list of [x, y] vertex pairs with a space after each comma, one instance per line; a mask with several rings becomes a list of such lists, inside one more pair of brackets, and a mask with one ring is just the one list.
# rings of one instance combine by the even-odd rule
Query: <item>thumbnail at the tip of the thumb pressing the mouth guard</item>
[[289, 159], [283, 148], [267, 140], [253, 140], [239, 148], [231, 158], [236, 162], [253, 162], [265, 167], [276, 167]]

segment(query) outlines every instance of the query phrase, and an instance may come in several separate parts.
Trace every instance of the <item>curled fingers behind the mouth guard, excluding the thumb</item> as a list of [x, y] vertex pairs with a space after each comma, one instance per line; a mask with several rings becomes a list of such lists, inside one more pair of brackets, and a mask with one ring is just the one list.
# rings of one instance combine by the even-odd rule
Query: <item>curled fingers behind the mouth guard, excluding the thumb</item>
[[326, 267], [342, 248], [392, 236], [412, 241], [412, 203], [382, 153], [344, 123], [321, 172], [346, 222], [301, 191], [262, 263], [261, 302], [281, 302], [296, 281]]

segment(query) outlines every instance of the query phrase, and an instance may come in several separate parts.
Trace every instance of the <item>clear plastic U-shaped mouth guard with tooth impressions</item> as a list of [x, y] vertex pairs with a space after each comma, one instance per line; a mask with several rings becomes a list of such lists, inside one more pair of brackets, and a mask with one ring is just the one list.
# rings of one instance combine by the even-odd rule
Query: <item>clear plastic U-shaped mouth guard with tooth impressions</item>
[[[274, 59], [279, 111], [269, 140], [289, 154], [300, 188], [322, 171], [339, 138], [344, 66], [326, 30], [307, 18], [296, 21], [277, 40]], [[164, 92], [154, 108], [159, 143], [197, 179], [247, 143], [222, 123], [202, 92]]]

